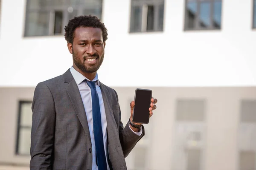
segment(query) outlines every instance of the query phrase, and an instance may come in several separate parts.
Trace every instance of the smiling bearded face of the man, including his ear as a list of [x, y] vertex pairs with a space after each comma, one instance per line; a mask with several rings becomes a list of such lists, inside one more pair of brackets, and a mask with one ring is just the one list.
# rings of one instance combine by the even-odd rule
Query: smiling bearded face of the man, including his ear
[[75, 30], [73, 44], [68, 45], [73, 54], [73, 64], [84, 73], [98, 71], [104, 59], [105, 42], [100, 28], [79, 27]]

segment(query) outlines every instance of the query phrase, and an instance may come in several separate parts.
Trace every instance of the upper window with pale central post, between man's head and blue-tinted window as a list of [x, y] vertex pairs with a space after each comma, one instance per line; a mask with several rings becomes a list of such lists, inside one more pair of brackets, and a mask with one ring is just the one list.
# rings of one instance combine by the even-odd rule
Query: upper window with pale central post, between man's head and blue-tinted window
[[164, 0], [132, 0], [130, 32], [163, 31]]

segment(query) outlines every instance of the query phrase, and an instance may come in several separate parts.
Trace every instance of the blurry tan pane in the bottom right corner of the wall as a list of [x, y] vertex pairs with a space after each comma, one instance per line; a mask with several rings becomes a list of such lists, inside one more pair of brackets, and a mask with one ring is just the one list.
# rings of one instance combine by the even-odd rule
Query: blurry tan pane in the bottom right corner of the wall
[[239, 170], [255, 170], [255, 168], [255, 153], [253, 151], [241, 151]]

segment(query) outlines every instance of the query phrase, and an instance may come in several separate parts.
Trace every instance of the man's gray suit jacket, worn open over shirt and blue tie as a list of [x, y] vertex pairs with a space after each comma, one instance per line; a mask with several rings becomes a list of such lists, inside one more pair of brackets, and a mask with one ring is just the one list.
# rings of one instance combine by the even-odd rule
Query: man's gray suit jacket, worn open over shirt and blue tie
[[[111, 169], [126, 170], [125, 157], [145, 135], [136, 135], [121, 122], [116, 91], [100, 82], [108, 123]], [[91, 170], [92, 144], [84, 105], [76, 82], [67, 70], [40, 82], [32, 103], [31, 170]]]

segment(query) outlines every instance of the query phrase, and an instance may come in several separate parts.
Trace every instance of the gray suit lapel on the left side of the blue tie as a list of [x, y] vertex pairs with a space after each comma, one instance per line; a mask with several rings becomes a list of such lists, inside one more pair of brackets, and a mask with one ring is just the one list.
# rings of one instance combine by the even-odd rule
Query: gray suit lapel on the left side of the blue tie
[[[66, 71], [66, 73], [63, 74], [63, 76], [64, 76], [64, 82], [68, 83], [66, 88], [67, 94], [70, 97], [70, 101], [72, 102], [72, 105], [76, 111], [77, 117], [81, 122], [82, 127], [84, 128], [86, 136], [90, 140], [89, 126], [88, 126], [87, 117], [84, 109], [84, 104], [79, 92], [79, 88], [76, 85], [76, 81], [73, 78], [70, 70]], [[90, 143], [91, 143], [91, 140], [90, 140]]]

